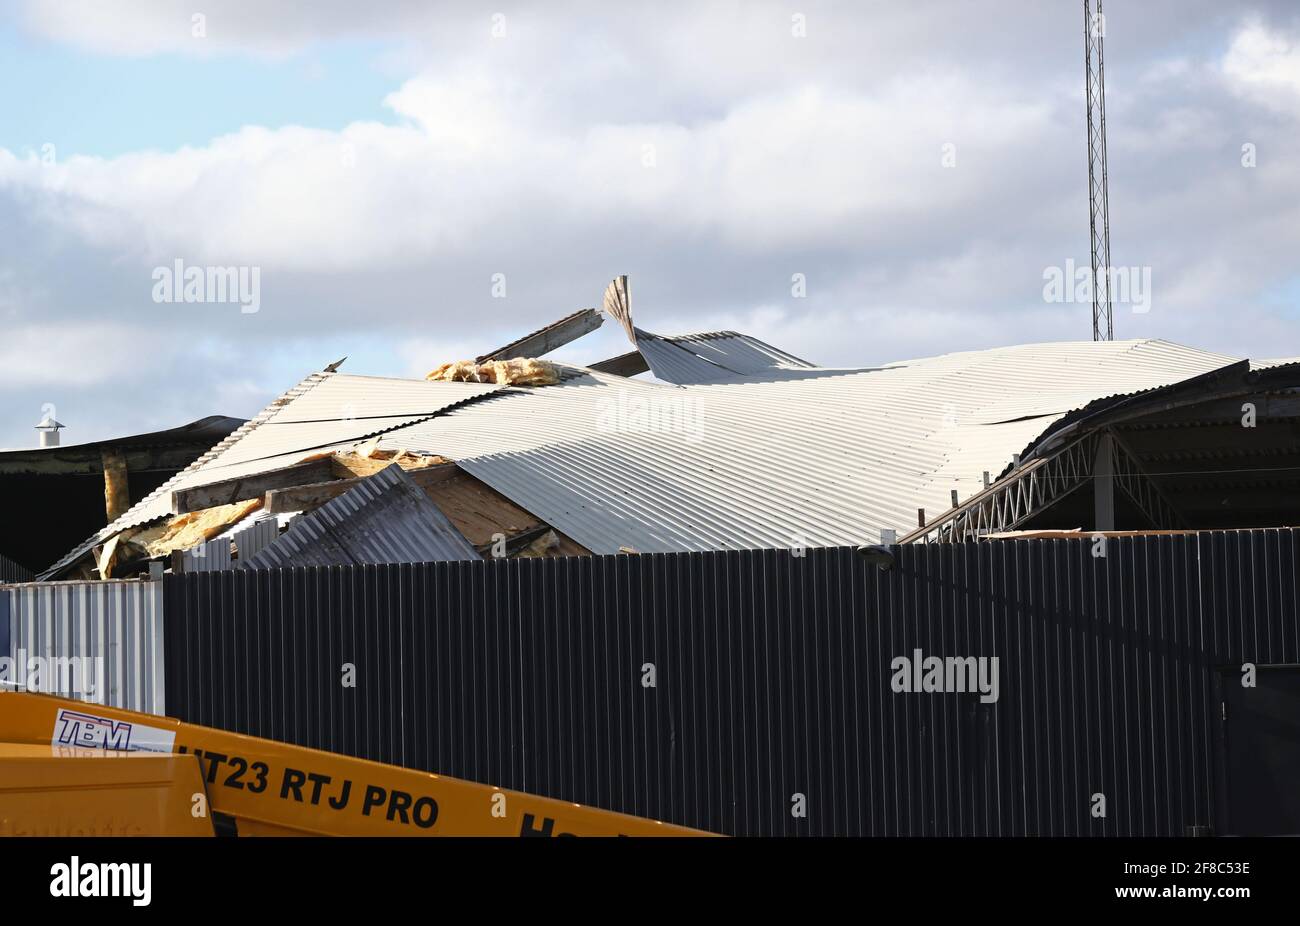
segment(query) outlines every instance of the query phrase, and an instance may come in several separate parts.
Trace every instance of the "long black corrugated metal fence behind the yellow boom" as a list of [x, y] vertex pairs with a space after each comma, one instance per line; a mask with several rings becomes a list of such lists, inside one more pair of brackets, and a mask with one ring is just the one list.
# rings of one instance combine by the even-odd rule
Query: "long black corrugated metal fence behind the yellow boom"
[[[1105, 557], [904, 546], [889, 571], [811, 549], [169, 577], [168, 702], [736, 835], [1180, 835], [1212, 822], [1214, 667], [1300, 661], [1297, 549], [1256, 531]], [[894, 693], [915, 649], [996, 655], [998, 700]]]

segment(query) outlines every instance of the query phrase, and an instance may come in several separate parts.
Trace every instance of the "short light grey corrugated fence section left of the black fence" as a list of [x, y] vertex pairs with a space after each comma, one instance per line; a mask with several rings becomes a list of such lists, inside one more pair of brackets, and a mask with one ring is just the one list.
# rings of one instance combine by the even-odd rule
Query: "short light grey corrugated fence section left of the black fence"
[[[5, 655], [14, 661], [13, 672], [25, 671], [20, 662], [27, 666], [27, 659], [40, 657], [44, 662], [38, 665], [46, 667], [42, 691], [166, 713], [162, 583], [32, 583], [6, 585], [0, 597], [9, 610]], [[57, 684], [52, 671], [58, 671]]]

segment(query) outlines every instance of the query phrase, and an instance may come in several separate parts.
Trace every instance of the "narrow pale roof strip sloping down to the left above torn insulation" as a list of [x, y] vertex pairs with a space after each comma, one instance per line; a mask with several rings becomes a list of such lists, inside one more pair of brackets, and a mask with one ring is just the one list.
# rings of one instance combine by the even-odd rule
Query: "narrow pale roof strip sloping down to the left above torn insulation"
[[312, 373], [121, 518], [68, 553], [40, 577], [57, 575], [96, 544], [121, 531], [165, 518], [172, 512], [170, 497], [177, 489], [290, 466], [307, 453], [343, 450], [358, 441], [421, 421], [500, 389], [503, 386], [481, 382]]

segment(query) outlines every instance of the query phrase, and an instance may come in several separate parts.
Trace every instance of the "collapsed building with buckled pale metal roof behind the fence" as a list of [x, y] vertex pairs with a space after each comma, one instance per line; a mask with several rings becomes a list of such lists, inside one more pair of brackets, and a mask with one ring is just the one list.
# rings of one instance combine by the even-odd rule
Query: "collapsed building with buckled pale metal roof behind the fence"
[[[602, 308], [425, 380], [312, 373], [133, 485], [40, 577], [1300, 523], [1296, 360], [1143, 339], [827, 368], [734, 332], [650, 333], [625, 277]], [[541, 359], [606, 317], [630, 351]], [[374, 516], [393, 493], [407, 503]], [[341, 540], [354, 518], [367, 529]]]

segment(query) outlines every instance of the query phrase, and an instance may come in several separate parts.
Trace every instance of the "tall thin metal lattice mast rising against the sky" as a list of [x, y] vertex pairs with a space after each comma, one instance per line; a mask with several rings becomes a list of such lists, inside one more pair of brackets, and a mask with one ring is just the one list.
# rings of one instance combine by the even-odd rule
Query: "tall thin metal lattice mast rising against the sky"
[[1106, 17], [1083, 0], [1084, 96], [1088, 103], [1088, 229], [1092, 242], [1092, 339], [1113, 341], [1110, 313], [1110, 207], [1106, 195], [1106, 81], [1101, 46]]

